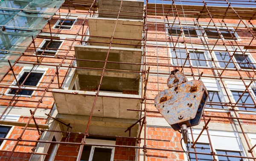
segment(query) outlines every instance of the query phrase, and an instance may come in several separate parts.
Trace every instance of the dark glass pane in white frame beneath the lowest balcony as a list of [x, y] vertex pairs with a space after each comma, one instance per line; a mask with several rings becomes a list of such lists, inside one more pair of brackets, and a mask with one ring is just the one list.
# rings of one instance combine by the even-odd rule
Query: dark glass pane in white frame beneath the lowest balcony
[[111, 160], [110, 148], [95, 147], [93, 152], [93, 161], [110, 161]]

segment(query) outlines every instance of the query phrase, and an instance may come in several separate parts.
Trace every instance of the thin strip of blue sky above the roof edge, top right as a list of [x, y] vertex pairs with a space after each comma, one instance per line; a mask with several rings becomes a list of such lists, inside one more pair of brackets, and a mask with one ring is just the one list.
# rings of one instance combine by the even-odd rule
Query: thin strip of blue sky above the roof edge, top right
[[[180, 0], [175, 0], [175, 4], [180, 4]], [[182, 0], [183, 1], [183, 0]], [[184, 0], [184, 1], [190, 1], [190, 2], [182, 2], [183, 5], [196, 5], [196, 6], [203, 6], [204, 4], [202, 3], [203, 0]], [[234, 7], [256, 7], [256, 2], [249, 2], [249, 0], [238, 0], [240, 2], [235, 2], [233, 0], [231, 3], [232, 6]], [[241, 2], [243, 1], [243, 2]], [[200, 3], [195, 3], [195, 2], [200, 2]], [[211, 2], [218, 2], [218, 3], [225, 3], [225, 0], [205, 0], [208, 6], [228, 6], [227, 4], [215, 4]], [[148, 3], [160, 3], [160, 4], [171, 4], [172, 0], [167, 1], [167, 0], [148, 0]], [[234, 4], [234, 3], [241, 3], [241, 4]]]

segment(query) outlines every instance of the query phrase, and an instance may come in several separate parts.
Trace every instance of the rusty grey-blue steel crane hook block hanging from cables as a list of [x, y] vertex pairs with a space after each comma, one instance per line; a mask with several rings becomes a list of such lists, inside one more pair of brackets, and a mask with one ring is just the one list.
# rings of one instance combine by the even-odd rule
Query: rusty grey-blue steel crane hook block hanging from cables
[[177, 69], [171, 72], [167, 85], [169, 89], [157, 94], [154, 105], [174, 130], [181, 130], [187, 144], [188, 127], [200, 123], [208, 98], [207, 89], [202, 81], [188, 81]]

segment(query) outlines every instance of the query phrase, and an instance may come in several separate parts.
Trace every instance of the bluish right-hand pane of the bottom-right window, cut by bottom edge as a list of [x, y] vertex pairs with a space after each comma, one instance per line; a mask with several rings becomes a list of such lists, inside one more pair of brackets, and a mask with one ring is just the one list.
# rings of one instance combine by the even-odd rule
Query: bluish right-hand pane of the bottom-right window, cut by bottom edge
[[[216, 150], [217, 154], [223, 155], [236, 155], [242, 156], [241, 152], [238, 151], [226, 151], [226, 150]], [[227, 157], [227, 156], [218, 156], [219, 161], [243, 161], [242, 158], [234, 158], [234, 157]]]

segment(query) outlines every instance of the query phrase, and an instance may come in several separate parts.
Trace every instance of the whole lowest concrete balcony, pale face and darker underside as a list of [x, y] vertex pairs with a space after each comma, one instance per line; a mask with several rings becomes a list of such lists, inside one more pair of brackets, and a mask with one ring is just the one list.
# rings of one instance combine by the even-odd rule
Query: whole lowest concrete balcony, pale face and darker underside
[[[54, 89], [52, 94], [58, 119], [70, 123], [72, 131], [84, 132], [96, 92]], [[127, 109], [140, 109], [140, 98], [134, 94], [99, 92], [89, 133], [128, 136], [124, 131], [137, 121], [139, 112]], [[137, 127], [132, 128], [131, 136], [137, 136]]]

